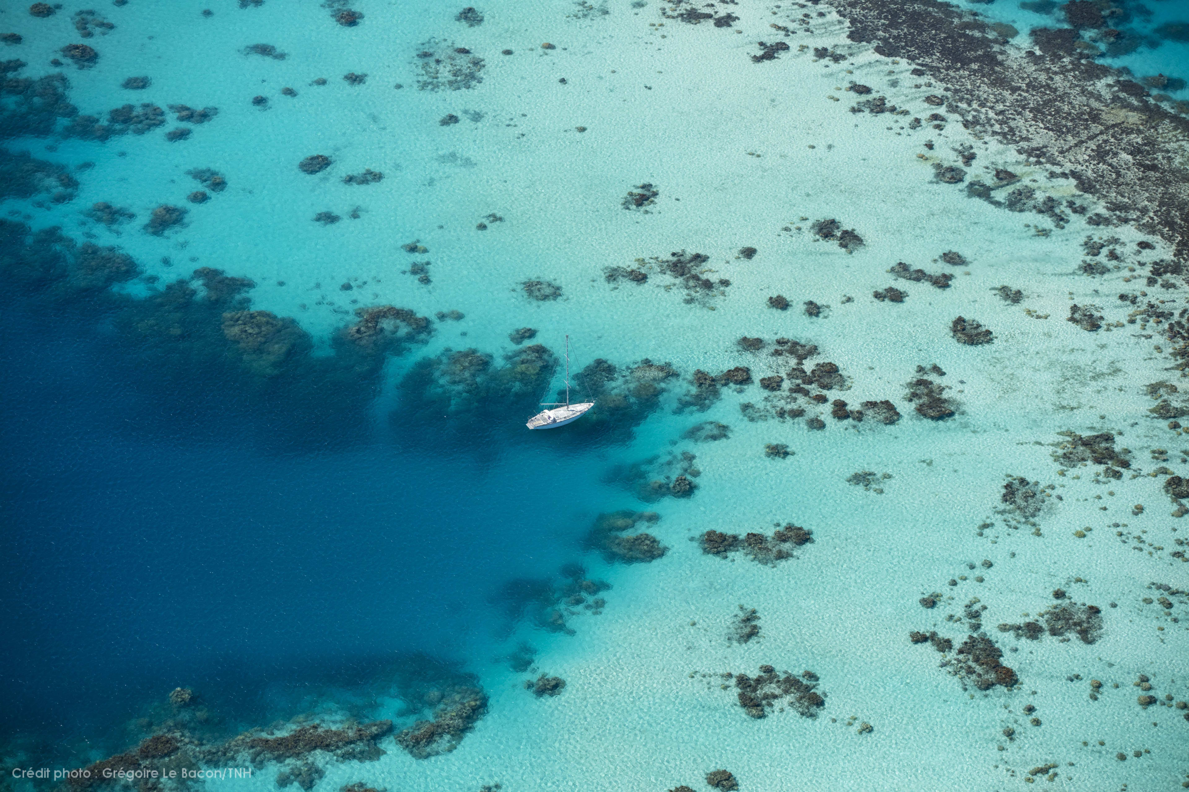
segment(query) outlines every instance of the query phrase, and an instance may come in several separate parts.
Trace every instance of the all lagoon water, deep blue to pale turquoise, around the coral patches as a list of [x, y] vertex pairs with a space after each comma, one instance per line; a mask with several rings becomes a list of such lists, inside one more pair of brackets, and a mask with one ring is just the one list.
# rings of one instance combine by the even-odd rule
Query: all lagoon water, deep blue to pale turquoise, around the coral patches
[[[144, 134], [103, 141], [6, 141], [77, 179], [61, 202], [11, 190], [7, 222], [117, 246], [140, 271], [63, 297], [18, 277], [12, 261], [32, 260], [31, 248], [7, 251], [6, 785], [40, 784], [11, 778], [14, 766], [83, 767], [176, 729], [166, 697], [178, 686], [208, 714], [187, 723], [209, 746], [254, 727], [347, 718], [391, 718], [400, 731], [432, 716], [439, 699], [427, 690], [460, 679], [487, 705], [457, 749], [419, 759], [385, 736], [371, 761], [315, 752], [301, 761], [325, 773], [316, 788], [700, 791], [719, 768], [742, 790], [1160, 790], [1189, 778], [1189, 723], [1175, 707], [1189, 697], [1177, 621], [1189, 614], [1183, 594], [1156, 602], [1189, 581], [1171, 556], [1169, 474], [1145, 475], [1181, 473], [1189, 444], [1147, 412], [1144, 386], [1176, 373], [1115, 298], [1139, 286], [1126, 268], [1140, 258], [1138, 232], [1109, 229], [1124, 261], [1092, 277], [1082, 241], [1102, 229], [1077, 217], [1055, 227], [938, 182], [935, 164], [973, 151], [976, 173], [1006, 167], [1062, 201], [1088, 199], [958, 123], [911, 129], [848, 112], [851, 82], [914, 114], [933, 108], [911, 64], [848, 42], [824, 7], [728, 5], [719, 11], [740, 19], [716, 27], [638, 0], [503, 2], [468, 25], [461, 6], [377, 1], [342, 26], [334, 4], [243, 5], [220, 0], [203, 15], [191, 2], [68, 2], [48, 18], [0, 15], [23, 37], [5, 52], [27, 63], [19, 74], [61, 71], [82, 113], [218, 108], [203, 123], [170, 112]], [[979, 11], [1018, 24], [1007, 5]], [[56, 69], [61, 47], [83, 40], [75, 20], [94, 19], [82, 11], [114, 27], [92, 26], [92, 66]], [[810, 12], [812, 33], [751, 61], [770, 24]], [[285, 57], [245, 53], [254, 44]], [[850, 57], [814, 58], [822, 46]], [[366, 76], [352, 84], [348, 72]], [[151, 84], [121, 88], [134, 76]], [[176, 127], [191, 132], [170, 141]], [[315, 154], [329, 167], [302, 172]], [[226, 189], [189, 202], [203, 189], [195, 169], [220, 172]], [[344, 183], [365, 169], [383, 179]], [[625, 209], [643, 184], [652, 203]], [[101, 223], [86, 214], [97, 202], [136, 217]], [[187, 209], [183, 222], [145, 233], [161, 205]], [[315, 222], [319, 213], [339, 220]], [[828, 218], [864, 245], [848, 253], [820, 239], [813, 223]], [[1152, 242], [1146, 258], [1170, 255]], [[648, 264], [677, 251], [706, 255], [702, 277], [729, 285], [687, 294]], [[948, 251], [964, 264], [943, 262]], [[952, 284], [895, 280], [898, 261]], [[243, 306], [168, 321], [165, 309], [138, 308], [200, 267], [251, 279], [251, 309], [292, 317], [309, 355], [245, 375], [238, 367], [256, 359], [237, 357], [219, 329]], [[648, 280], [611, 283], [608, 267], [644, 267]], [[560, 296], [531, 299], [526, 281]], [[1001, 285], [1023, 302], [1001, 299]], [[872, 297], [888, 286], [907, 292], [904, 303]], [[213, 290], [196, 293], [201, 306]], [[792, 308], [769, 308], [775, 294]], [[824, 306], [818, 316], [807, 300]], [[1107, 327], [1063, 321], [1074, 303], [1101, 306]], [[336, 367], [350, 349], [341, 328], [376, 305], [429, 317], [432, 335]], [[956, 316], [993, 329], [994, 342], [956, 343]], [[523, 327], [554, 354], [568, 334], [575, 372], [648, 359], [679, 375], [655, 398], [629, 388], [635, 410], [531, 435], [523, 420], [561, 385], [560, 369], [549, 388], [530, 380], [536, 389], [511, 397], [465, 368], [427, 380], [424, 361], [449, 350], [503, 365], [524, 348], [509, 338]], [[741, 337], [765, 346], [744, 349]], [[778, 337], [817, 344], [806, 368], [836, 363], [845, 389], [825, 404], [801, 398], [795, 419], [765, 411], [755, 382], [724, 385], [703, 411], [682, 406], [697, 369], [786, 374], [793, 361], [770, 355]], [[956, 414], [913, 410], [907, 384], [921, 376], [949, 387]], [[891, 400], [902, 418], [839, 420], [838, 398], [851, 408]], [[814, 417], [824, 429], [806, 423]], [[704, 422], [729, 436], [698, 442], [688, 430]], [[1056, 458], [1061, 432], [1107, 431], [1128, 449], [1122, 479]], [[772, 444], [789, 454], [767, 454]], [[642, 479], [624, 474], [633, 463]], [[649, 481], [680, 473], [692, 496], [649, 494]], [[1006, 475], [1051, 486], [1043, 507], [1005, 506]], [[618, 509], [655, 511], [635, 530], [647, 525], [666, 553], [625, 564], [592, 549], [597, 515]], [[698, 541], [786, 522], [813, 541], [773, 565]], [[610, 588], [565, 602], [567, 581], [581, 579]], [[1038, 617], [1055, 589], [1102, 609], [1093, 644], [995, 628]], [[938, 606], [924, 609], [933, 593]], [[583, 607], [596, 596], [605, 603]], [[987, 606], [984, 632], [1017, 685], [963, 684], [954, 664], [938, 665], [961, 655], [910, 641], [936, 631], [961, 644], [977, 632], [971, 604]], [[740, 606], [760, 617], [747, 642], [729, 640]], [[819, 677], [816, 717], [747, 716], [722, 674], [768, 664]], [[524, 682], [540, 674], [566, 688], [534, 696]], [[1168, 705], [1141, 708], [1138, 684]], [[270, 790], [295, 761], [205, 785]]]

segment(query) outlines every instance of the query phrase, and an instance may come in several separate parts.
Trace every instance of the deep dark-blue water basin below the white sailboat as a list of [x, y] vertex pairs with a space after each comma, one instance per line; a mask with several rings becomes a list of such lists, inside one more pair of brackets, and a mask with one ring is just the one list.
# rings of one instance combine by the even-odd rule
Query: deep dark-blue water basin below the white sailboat
[[397, 451], [379, 414], [352, 448], [270, 448], [250, 404], [162, 392], [94, 327], [0, 321], [10, 728], [74, 733], [177, 685], [250, 720], [401, 653], [465, 661], [508, 581], [579, 557], [594, 506], [535, 486], [568, 464], [552, 451]]

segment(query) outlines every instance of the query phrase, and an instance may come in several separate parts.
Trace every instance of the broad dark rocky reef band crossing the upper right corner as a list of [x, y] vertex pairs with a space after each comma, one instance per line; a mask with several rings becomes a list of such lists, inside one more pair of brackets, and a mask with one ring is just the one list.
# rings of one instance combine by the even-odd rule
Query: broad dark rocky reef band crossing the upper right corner
[[826, 2], [850, 24], [850, 40], [875, 44], [877, 55], [907, 59], [943, 84], [945, 109], [970, 132], [1074, 179], [1111, 213], [1108, 222], [1133, 223], [1189, 258], [1189, 167], [1175, 144], [1189, 134], [1189, 119], [1095, 63], [1097, 50], [1078, 46], [1077, 27], [1033, 31], [1033, 49], [1021, 52], [951, 4]]

